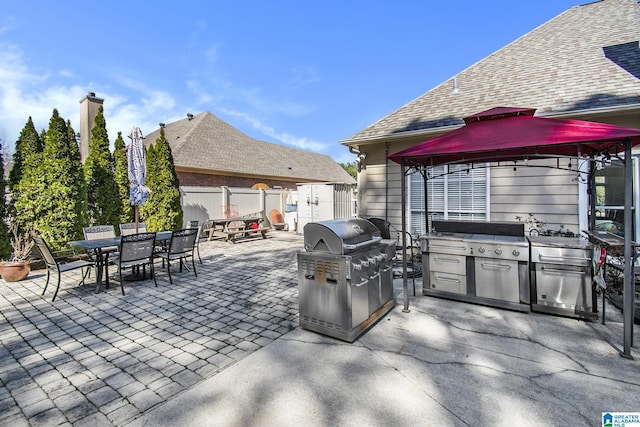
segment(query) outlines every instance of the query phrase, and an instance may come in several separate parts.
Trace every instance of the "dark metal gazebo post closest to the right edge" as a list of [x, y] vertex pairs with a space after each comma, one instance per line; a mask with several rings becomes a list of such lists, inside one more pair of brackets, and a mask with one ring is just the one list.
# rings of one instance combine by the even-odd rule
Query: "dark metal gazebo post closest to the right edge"
[[624, 142], [624, 283], [623, 283], [623, 342], [624, 351], [622, 356], [628, 359], [633, 359], [631, 356], [631, 346], [633, 345], [633, 318], [634, 318], [634, 275], [633, 275], [633, 261], [634, 256], [632, 253], [632, 224], [631, 224], [631, 200], [633, 197], [632, 182], [633, 182], [633, 168], [631, 162], [631, 139], [627, 138]]

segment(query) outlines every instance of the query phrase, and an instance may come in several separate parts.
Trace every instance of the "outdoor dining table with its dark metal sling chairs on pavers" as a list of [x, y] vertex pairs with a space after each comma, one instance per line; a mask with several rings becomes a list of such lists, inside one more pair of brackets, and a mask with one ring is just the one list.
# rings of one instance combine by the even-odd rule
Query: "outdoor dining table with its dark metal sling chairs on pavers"
[[[55, 275], [56, 285], [51, 301], [55, 301], [60, 288], [61, 275], [73, 270], [80, 269], [82, 272], [81, 284], [89, 276], [91, 269], [96, 271], [96, 293], [100, 291], [104, 278], [105, 286], [109, 287], [109, 266], [118, 269], [118, 282], [122, 295], [124, 295], [123, 272], [131, 269], [139, 276], [142, 268], [142, 278], [146, 277], [146, 268], [149, 267], [149, 275], [153, 278], [157, 287], [155, 277], [155, 261], [162, 260], [162, 267], [165, 267], [169, 276], [169, 282], [173, 283], [171, 277], [171, 265], [178, 262], [180, 271], [183, 268], [192, 269], [197, 277], [195, 267], [195, 256], [200, 257], [198, 241], [201, 227], [194, 227], [193, 222], [187, 228], [175, 231], [147, 232], [144, 223], [120, 224], [120, 236], [115, 233], [112, 225], [98, 225], [84, 228], [84, 239], [68, 242], [70, 246], [81, 248], [86, 252], [86, 257], [63, 262], [63, 258], [56, 256], [47, 242], [38, 235], [32, 238], [38, 247], [47, 267], [47, 280], [42, 291], [44, 295], [51, 280]], [[137, 232], [136, 232], [137, 231]], [[187, 261], [191, 259], [191, 266]], [[200, 263], [202, 260], [200, 259]], [[174, 263], [175, 265], [175, 263]]]

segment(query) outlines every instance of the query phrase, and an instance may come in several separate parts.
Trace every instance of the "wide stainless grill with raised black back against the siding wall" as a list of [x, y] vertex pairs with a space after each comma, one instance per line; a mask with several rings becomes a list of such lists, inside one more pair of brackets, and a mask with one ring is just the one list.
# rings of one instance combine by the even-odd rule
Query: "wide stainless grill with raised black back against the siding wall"
[[423, 294], [530, 310], [529, 242], [515, 223], [433, 221], [421, 237]]

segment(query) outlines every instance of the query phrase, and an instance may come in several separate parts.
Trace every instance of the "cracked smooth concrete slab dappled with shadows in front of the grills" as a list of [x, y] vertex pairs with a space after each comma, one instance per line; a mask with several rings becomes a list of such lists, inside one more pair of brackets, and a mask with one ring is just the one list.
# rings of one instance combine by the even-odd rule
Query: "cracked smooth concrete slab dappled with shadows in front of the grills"
[[130, 426], [601, 426], [640, 412], [640, 353], [608, 315], [412, 297], [353, 344], [295, 329]]

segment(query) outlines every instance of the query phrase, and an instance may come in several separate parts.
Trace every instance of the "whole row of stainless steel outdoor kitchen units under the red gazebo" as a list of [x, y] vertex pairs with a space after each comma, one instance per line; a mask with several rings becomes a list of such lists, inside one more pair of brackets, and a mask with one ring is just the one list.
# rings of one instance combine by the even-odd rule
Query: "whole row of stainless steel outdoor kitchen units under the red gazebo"
[[525, 236], [523, 223], [434, 220], [420, 246], [424, 295], [598, 317], [588, 240]]

